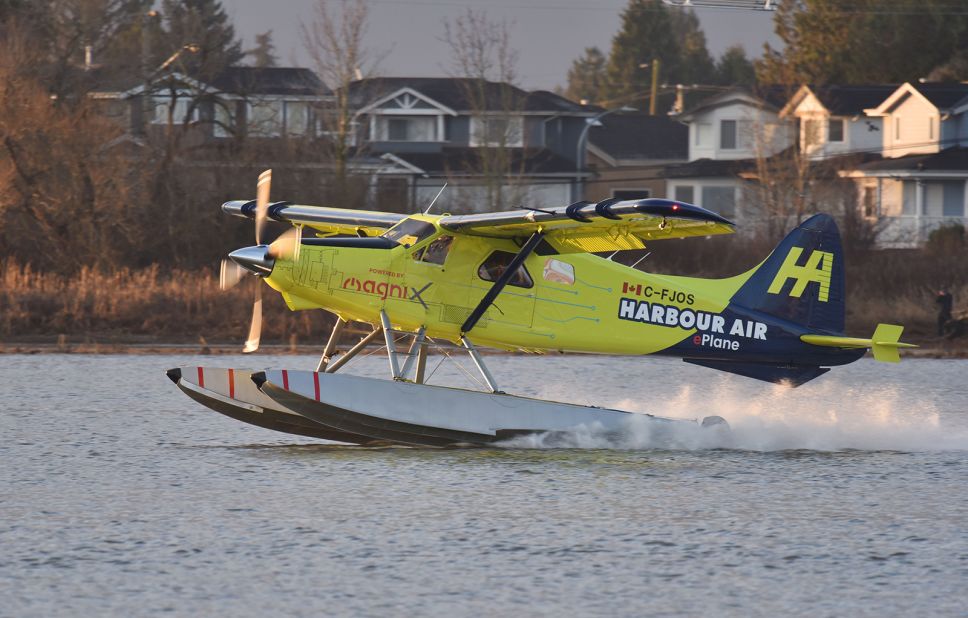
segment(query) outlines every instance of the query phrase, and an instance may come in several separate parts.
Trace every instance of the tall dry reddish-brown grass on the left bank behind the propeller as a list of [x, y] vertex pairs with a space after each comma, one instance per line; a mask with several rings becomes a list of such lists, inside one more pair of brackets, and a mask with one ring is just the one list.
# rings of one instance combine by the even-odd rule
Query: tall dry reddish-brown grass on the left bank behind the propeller
[[[82, 268], [75, 276], [0, 264], [0, 338], [57, 340], [236, 342], [245, 338], [254, 280], [218, 289], [214, 273], [157, 267], [105, 273]], [[332, 323], [323, 312], [289, 311], [279, 294], [264, 290], [263, 340], [320, 341]]]

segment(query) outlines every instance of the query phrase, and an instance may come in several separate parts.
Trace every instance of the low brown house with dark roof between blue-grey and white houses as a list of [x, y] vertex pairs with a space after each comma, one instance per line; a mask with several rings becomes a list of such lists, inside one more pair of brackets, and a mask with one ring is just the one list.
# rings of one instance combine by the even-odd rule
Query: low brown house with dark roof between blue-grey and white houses
[[665, 168], [688, 160], [689, 128], [642, 113], [614, 113], [597, 124], [588, 131], [594, 176], [584, 183], [584, 199], [667, 197]]

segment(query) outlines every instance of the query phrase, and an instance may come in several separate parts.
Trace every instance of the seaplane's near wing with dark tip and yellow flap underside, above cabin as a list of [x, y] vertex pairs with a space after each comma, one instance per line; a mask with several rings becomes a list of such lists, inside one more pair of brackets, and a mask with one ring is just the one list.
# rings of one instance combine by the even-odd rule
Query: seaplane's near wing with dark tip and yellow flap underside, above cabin
[[576, 202], [542, 210], [445, 216], [447, 231], [490, 238], [521, 238], [539, 230], [561, 253], [643, 249], [647, 241], [732, 234], [734, 224], [718, 214], [674, 200]]

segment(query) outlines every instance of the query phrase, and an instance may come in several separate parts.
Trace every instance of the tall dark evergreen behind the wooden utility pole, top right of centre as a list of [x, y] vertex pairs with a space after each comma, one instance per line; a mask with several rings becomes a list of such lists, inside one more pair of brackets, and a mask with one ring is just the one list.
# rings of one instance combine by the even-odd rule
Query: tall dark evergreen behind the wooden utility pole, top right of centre
[[660, 61], [661, 82], [709, 82], [715, 72], [706, 37], [691, 11], [671, 9], [661, 0], [630, 0], [622, 26], [612, 39], [608, 61], [610, 103], [627, 103], [648, 92], [652, 60]]

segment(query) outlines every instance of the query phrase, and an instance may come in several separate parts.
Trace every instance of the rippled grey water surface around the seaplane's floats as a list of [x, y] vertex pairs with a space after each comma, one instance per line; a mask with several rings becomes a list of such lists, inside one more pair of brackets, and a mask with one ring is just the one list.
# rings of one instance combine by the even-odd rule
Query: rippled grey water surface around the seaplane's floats
[[494, 358], [510, 392], [720, 414], [733, 435], [486, 450], [314, 443], [164, 377], [251, 362], [0, 356], [0, 615], [966, 615], [966, 361], [789, 391], [671, 360]]

